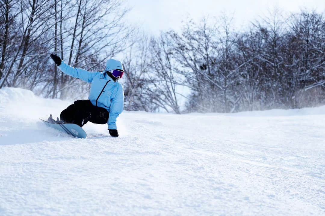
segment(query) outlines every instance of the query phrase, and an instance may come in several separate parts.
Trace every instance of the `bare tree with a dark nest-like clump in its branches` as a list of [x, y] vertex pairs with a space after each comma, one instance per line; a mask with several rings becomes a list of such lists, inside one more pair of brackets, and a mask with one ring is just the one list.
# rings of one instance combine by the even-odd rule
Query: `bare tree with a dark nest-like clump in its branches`
[[[204, 110], [213, 110], [214, 94], [210, 94], [215, 88], [221, 86], [215, 79], [215, 65], [217, 46], [215, 26], [209, 27], [206, 20], [202, 20], [201, 26], [189, 21], [183, 29], [182, 35], [175, 32], [169, 32], [174, 40], [174, 58], [178, 64], [178, 73], [186, 79], [183, 85], [190, 87], [193, 91], [193, 106], [197, 105], [198, 109], [202, 108], [200, 104], [205, 104]], [[192, 106], [192, 105], [190, 105]]]

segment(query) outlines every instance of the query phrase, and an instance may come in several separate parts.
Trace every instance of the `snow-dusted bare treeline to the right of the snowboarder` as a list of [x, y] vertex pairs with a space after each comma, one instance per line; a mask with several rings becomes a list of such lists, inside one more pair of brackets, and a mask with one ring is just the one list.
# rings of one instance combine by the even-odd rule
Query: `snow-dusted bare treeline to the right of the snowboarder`
[[[325, 21], [273, 11], [244, 31], [226, 16], [189, 21], [140, 44], [130, 59], [128, 109], [238, 112], [325, 104]], [[177, 85], [190, 91], [180, 110]]]

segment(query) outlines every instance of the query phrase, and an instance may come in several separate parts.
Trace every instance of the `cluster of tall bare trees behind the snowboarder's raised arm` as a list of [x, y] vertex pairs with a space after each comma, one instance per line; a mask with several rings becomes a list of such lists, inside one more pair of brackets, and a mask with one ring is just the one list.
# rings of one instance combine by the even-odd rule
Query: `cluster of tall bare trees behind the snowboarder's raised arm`
[[128, 46], [132, 29], [122, 20], [127, 11], [118, 0], [1, 2], [0, 88], [37, 87], [52, 98], [85, 92], [89, 85], [58, 73], [49, 54], [59, 53], [72, 66], [102, 70], [100, 64]]

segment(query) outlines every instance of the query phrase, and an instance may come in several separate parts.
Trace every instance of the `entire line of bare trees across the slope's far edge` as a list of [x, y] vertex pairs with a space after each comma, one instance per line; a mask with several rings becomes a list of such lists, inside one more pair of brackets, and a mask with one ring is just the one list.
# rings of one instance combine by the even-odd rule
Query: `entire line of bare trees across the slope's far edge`
[[244, 30], [234, 30], [227, 16], [188, 20], [181, 32], [149, 37], [123, 23], [125, 13], [117, 0], [2, 1], [0, 88], [84, 96], [89, 84], [63, 75], [49, 54], [90, 71], [123, 54], [127, 110], [238, 112], [325, 104], [322, 14], [284, 17], [274, 10]]

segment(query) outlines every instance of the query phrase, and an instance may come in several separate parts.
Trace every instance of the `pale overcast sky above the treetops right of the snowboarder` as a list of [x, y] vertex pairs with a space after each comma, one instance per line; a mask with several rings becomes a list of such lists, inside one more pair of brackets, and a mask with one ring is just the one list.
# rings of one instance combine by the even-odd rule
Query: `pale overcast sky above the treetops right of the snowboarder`
[[202, 16], [218, 17], [233, 14], [235, 27], [240, 28], [268, 10], [277, 7], [284, 13], [298, 12], [300, 8], [325, 12], [325, 0], [125, 0], [133, 7], [127, 20], [139, 24], [148, 33], [161, 30], [179, 30], [187, 17], [199, 20]]

